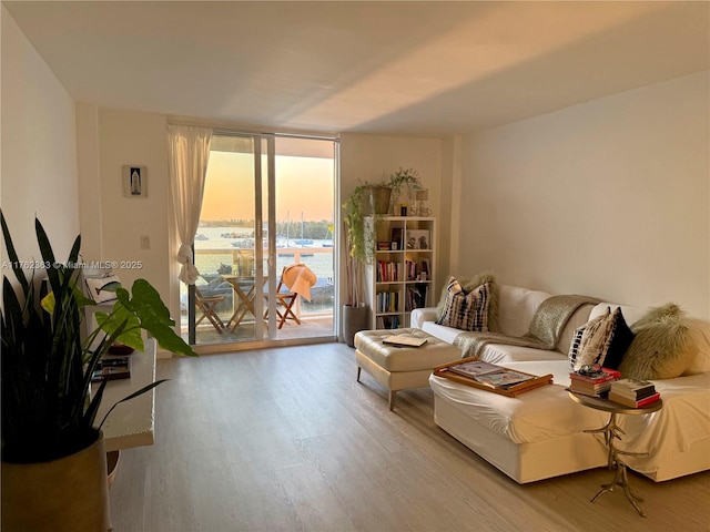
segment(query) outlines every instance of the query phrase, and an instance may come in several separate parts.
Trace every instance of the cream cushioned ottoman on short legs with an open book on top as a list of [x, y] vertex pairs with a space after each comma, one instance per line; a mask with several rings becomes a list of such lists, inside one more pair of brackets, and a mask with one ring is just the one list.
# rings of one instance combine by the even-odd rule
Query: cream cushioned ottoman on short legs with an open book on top
[[[425, 338], [419, 347], [398, 347], [384, 344], [389, 336]], [[462, 357], [457, 347], [439, 340], [422, 329], [361, 330], [355, 335], [357, 381], [364, 369], [389, 390], [389, 410], [395, 407], [397, 390], [425, 388], [435, 366]]]

